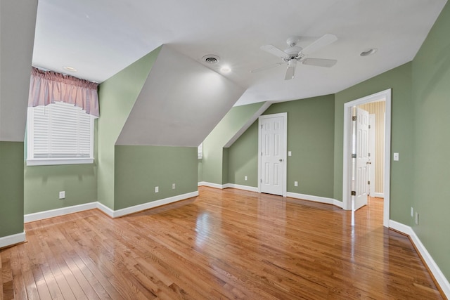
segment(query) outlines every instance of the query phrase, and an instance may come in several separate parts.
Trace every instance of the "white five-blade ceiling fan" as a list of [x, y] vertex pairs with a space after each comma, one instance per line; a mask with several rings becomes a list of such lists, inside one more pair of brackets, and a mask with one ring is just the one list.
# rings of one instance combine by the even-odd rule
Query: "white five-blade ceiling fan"
[[286, 70], [284, 79], [289, 80], [293, 79], [295, 76], [295, 67], [297, 66], [297, 62], [302, 63], [304, 65], [333, 67], [333, 65], [335, 65], [338, 62], [338, 60], [330, 60], [324, 58], [307, 58], [307, 56], [309, 56], [310, 53], [318, 51], [320, 48], [328, 46], [329, 44], [332, 44], [337, 40], [338, 37], [336, 37], [334, 34], [328, 33], [323, 35], [323, 37], [316, 39], [316, 41], [314, 41], [312, 44], [309, 44], [309, 46], [306, 46], [305, 48], [297, 46], [298, 42], [300, 41], [300, 37], [288, 38], [286, 43], [289, 45], [289, 48], [287, 48], [285, 51], [276, 48], [276, 46], [272, 45], [262, 46], [261, 47], [262, 50], [271, 53], [274, 56], [278, 56], [283, 61], [281, 63], [276, 63], [275, 65], [260, 67], [259, 69], [251, 70], [250, 72], [251, 73], [261, 72], [270, 69], [271, 67], [276, 67], [277, 65], [284, 65], [287, 63], [288, 69]]

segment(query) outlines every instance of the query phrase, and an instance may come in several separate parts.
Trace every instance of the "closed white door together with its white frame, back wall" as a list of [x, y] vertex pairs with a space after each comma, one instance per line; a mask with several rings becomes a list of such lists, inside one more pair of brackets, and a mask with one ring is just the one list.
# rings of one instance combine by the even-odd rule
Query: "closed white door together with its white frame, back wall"
[[288, 114], [258, 119], [258, 192], [286, 196]]

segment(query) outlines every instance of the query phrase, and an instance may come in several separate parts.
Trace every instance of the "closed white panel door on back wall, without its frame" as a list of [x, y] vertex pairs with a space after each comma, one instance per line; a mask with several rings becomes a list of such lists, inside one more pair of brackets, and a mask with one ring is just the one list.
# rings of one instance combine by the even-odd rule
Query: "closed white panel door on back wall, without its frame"
[[264, 117], [261, 126], [261, 192], [283, 195], [284, 117]]

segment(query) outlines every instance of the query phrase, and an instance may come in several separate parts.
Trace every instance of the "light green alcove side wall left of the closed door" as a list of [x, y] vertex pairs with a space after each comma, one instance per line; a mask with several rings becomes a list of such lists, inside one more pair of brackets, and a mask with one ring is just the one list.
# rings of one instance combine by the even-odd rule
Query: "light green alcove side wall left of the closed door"
[[[202, 173], [199, 178], [209, 183], [224, 184], [228, 182], [228, 150], [224, 146], [240, 129], [255, 115], [264, 103], [252, 103], [232, 107], [214, 127], [203, 141], [203, 159], [201, 161]], [[200, 180], [199, 180], [200, 181]]]

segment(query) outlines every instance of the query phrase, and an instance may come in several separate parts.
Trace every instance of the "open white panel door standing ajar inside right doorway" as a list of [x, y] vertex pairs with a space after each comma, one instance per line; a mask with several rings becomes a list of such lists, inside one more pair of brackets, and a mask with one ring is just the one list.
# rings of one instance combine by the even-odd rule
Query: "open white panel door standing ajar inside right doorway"
[[353, 209], [359, 209], [367, 205], [368, 196], [368, 112], [356, 109], [356, 167]]

